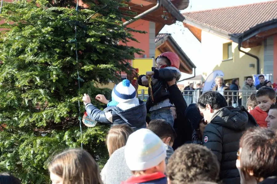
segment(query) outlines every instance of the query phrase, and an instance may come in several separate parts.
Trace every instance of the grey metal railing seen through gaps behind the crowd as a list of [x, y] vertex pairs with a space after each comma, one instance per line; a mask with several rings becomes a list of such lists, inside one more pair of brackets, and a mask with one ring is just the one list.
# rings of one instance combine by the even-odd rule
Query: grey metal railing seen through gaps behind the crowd
[[[226, 98], [229, 106], [246, 106], [246, 101], [251, 94], [256, 91], [223, 91], [223, 96]], [[183, 90], [183, 97], [187, 102], [187, 105], [197, 103], [199, 96], [203, 93], [202, 90]], [[138, 97], [141, 100], [147, 100], [147, 90], [138, 90]]]

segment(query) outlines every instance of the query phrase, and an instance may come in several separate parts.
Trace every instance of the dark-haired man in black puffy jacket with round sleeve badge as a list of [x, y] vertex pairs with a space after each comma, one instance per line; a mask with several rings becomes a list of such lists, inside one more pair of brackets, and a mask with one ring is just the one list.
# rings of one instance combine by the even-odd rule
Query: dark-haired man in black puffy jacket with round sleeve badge
[[239, 139], [251, 123], [250, 126], [255, 126], [255, 122], [248, 122], [250, 115], [243, 107], [227, 107], [226, 99], [219, 92], [203, 93], [199, 97], [198, 106], [208, 122], [203, 133], [203, 145], [217, 156], [220, 179], [225, 184], [240, 183], [236, 168]]

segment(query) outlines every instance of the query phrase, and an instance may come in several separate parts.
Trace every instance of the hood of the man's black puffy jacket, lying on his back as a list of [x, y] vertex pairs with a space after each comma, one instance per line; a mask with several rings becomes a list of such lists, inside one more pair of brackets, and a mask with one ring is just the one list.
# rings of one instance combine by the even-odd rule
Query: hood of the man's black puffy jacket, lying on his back
[[225, 107], [215, 112], [211, 122], [233, 130], [244, 131], [248, 115], [240, 107]]

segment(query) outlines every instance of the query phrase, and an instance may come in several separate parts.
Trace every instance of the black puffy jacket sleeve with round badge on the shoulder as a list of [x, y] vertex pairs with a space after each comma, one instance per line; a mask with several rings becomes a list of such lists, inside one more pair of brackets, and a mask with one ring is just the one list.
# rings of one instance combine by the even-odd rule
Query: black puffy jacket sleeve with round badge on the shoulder
[[217, 157], [219, 163], [222, 159], [223, 141], [222, 134], [214, 124], [209, 123], [203, 133], [203, 145], [210, 149]]

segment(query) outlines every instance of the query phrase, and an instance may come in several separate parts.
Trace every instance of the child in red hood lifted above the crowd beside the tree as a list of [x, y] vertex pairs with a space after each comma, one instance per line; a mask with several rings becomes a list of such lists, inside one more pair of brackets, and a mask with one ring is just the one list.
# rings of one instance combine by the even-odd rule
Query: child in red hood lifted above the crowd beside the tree
[[[147, 87], [149, 85], [147, 76], [152, 78], [151, 85], [154, 101], [149, 96], [146, 103], [147, 112], [150, 112], [151, 120], [166, 119], [173, 126], [174, 119], [170, 110], [173, 104], [169, 100], [167, 81], [175, 78], [177, 82], [180, 79], [181, 72], [179, 66], [178, 55], [172, 52], [165, 52], [156, 58], [156, 68], [153, 67], [151, 72], [146, 72], [146, 76], [139, 76], [139, 85]], [[148, 94], [150, 94], [149, 90]]]

